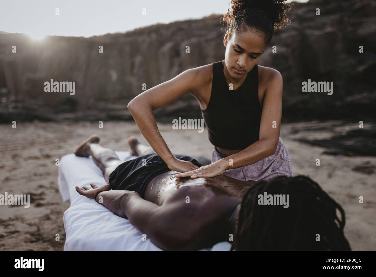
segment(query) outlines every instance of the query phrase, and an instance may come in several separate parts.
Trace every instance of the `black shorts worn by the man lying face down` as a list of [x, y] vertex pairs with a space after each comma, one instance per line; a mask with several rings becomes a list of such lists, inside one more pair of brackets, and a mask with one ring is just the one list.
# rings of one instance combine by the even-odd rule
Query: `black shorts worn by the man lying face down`
[[[174, 154], [176, 158], [202, 166], [187, 155]], [[137, 157], [120, 164], [108, 177], [111, 189], [132, 190], [142, 198], [147, 184], [159, 174], [170, 171], [167, 164], [156, 153]]]

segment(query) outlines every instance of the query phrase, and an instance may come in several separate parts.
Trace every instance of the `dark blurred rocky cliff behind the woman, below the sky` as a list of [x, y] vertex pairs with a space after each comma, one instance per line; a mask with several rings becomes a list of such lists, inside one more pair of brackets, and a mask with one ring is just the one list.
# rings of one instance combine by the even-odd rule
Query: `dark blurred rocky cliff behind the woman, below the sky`
[[[284, 77], [283, 120], [371, 118], [376, 108], [376, 2], [311, 0], [293, 5], [291, 23], [274, 33], [259, 61]], [[127, 103], [143, 86], [149, 89], [186, 69], [224, 59], [220, 17], [90, 38], [33, 40], [0, 32], [0, 121], [131, 119]], [[75, 94], [45, 92], [44, 82], [50, 79], [75, 82]], [[308, 79], [333, 82], [333, 94], [302, 92]], [[155, 115], [161, 121], [201, 117], [190, 95]]]

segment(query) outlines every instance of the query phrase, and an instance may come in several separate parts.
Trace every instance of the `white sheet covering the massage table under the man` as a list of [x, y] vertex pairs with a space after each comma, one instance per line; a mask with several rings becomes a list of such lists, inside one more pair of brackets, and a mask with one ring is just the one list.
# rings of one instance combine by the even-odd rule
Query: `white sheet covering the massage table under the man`
[[[121, 160], [131, 160], [129, 152], [115, 151]], [[102, 171], [91, 158], [68, 154], [60, 159], [58, 166], [59, 192], [63, 201], [70, 200], [64, 213], [66, 233], [65, 251], [71, 250], [161, 250], [150, 239], [142, 240], [141, 231], [106, 207], [77, 193], [75, 187], [98, 186], [106, 183]], [[229, 242], [220, 242], [212, 248], [202, 250], [230, 250]]]

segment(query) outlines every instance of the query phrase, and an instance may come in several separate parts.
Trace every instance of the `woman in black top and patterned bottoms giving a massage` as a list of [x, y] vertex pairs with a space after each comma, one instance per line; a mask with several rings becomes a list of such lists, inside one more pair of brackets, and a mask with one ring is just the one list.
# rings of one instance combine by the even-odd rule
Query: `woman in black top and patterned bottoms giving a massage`
[[[192, 68], [136, 96], [128, 109], [139, 130], [177, 177], [267, 180], [292, 176], [287, 148], [279, 138], [283, 80], [257, 65], [274, 29], [285, 21], [284, 0], [232, 0], [223, 16], [227, 25], [225, 59]], [[186, 93], [196, 97], [214, 145], [212, 162], [198, 168], [171, 154], [159, 133], [153, 110]]]

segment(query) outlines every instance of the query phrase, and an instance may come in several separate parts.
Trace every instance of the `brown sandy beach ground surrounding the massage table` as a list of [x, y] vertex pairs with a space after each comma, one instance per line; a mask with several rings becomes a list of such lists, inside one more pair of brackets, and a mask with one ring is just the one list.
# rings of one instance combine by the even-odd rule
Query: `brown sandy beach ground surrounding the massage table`
[[[174, 154], [186, 154], [210, 161], [213, 146], [207, 130], [173, 130], [172, 124], [158, 123]], [[367, 126], [374, 129], [375, 124]], [[56, 158], [72, 153], [90, 134], [101, 144], [128, 151], [127, 137], [146, 143], [134, 122], [17, 122], [0, 125], [0, 194], [30, 194], [30, 207], [0, 205], [0, 250], [63, 250], [63, 214], [69, 202], [62, 202], [58, 190]], [[352, 250], [376, 250], [376, 157], [326, 154], [333, 149], [299, 140], [324, 140], [359, 128], [340, 121], [283, 124], [280, 137], [290, 153], [294, 176], [311, 177], [339, 202], [346, 213], [345, 235]], [[316, 159], [320, 158], [320, 166]], [[364, 203], [359, 203], [359, 196]], [[56, 240], [56, 234], [60, 239]]]

